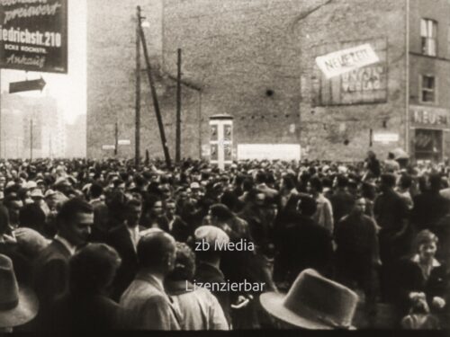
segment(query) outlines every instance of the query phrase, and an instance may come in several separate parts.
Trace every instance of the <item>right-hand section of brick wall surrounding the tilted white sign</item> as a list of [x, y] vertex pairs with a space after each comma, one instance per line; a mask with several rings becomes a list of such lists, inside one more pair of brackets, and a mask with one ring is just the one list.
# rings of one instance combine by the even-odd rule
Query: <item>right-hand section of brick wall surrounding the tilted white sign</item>
[[[400, 134], [401, 141], [387, 145], [373, 142], [377, 154], [383, 154], [392, 146], [404, 146], [405, 21], [404, 1], [340, 0], [320, 7], [295, 23], [298, 43], [302, 45], [302, 147], [310, 157], [362, 159], [371, 145], [371, 135], [381, 132]], [[376, 44], [384, 44], [381, 49], [385, 49], [386, 54], [382, 65], [387, 77], [386, 99], [377, 102], [378, 97], [372, 92], [374, 100], [366, 102], [354, 100], [355, 103], [341, 104], [333, 98], [331, 102], [321, 103], [316, 96], [328, 86], [332, 86], [333, 91], [338, 91], [334, 90], [338, 86], [342, 91], [343, 76], [326, 81], [315, 66], [315, 58], [365, 43], [370, 43], [379, 56], [380, 48], [375, 48]]]

